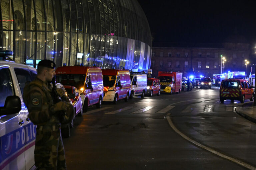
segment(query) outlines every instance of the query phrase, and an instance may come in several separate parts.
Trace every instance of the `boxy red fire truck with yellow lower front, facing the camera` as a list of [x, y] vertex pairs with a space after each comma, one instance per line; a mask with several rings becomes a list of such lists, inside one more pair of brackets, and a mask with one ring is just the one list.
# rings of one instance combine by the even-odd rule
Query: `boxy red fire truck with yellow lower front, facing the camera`
[[172, 94], [181, 92], [182, 73], [179, 72], [158, 72], [160, 80], [160, 92]]

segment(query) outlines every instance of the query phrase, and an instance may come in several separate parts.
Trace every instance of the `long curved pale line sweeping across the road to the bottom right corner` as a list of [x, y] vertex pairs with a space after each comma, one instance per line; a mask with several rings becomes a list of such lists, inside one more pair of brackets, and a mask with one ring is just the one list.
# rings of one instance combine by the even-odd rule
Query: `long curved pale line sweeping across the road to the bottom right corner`
[[[180, 101], [180, 102], [186, 102], [186, 101], [190, 101], [190, 100], [185, 100], [185, 101]], [[180, 102], [177, 102], [177, 103], [180, 103]], [[173, 103], [173, 104], [177, 104], [177, 103]], [[203, 148], [203, 149], [205, 149], [205, 150], [208, 150], [209, 152], [212, 152], [212, 153], [214, 153], [214, 154], [216, 154], [216, 155], [218, 155], [218, 156], [220, 156], [220, 157], [222, 157], [222, 158], [228, 159], [228, 160], [230, 160], [230, 161], [232, 161], [232, 162], [235, 162], [235, 163], [237, 163], [237, 164], [239, 164], [239, 165], [241, 165], [241, 166], [243, 166], [243, 167], [246, 167], [246, 168], [248, 168], [248, 169], [256, 170], [256, 167], [254, 167], [254, 166], [252, 166], [252, 165], [249, 165], [249, 164], [243, 162], [242, 160], [229, 157], [229, 156], [224, 155], [224, 154], [222, 154], [222, 153], [220, 153], [220, 152], [217, 152], [217, 151], [215, 151], [215, 150], [213, 150], [213, 149], [211, 149], [211, 148], [209, 148], [209, 147], [207, 147], [207, 146], [205, 146], [205, 145], [202, 145], [201, 143], [199, 143], [199, 142], [197, 142], [197, 141], [195, 141], [195, 140], [192, 140], [191, 138], [189, 138], [188, 136], [186, 136], [185, 134], [183, 134], [182, 132], [180, 132], [180, 131], [174, 126], [174, 124], [172, 123], [172, 119], [171, 119], [170, 115], [171, 115], [171, 113], [168, 113], [167, 116], [166, 116], [169, 125], [172, 127], [172, 129], [173, 129], [176, 133], [178, 133], [178, 134], [179, 134], [180, 136], [182, 136], [184, 139], [186, 139], [186, 140], [190, 141], [191, 143], [193, 143], [193, 144], [195, 144], [195, 145], [197, 145], [197, 146], [199, 146], [199, 147], [201, 147], [201, 148]]]

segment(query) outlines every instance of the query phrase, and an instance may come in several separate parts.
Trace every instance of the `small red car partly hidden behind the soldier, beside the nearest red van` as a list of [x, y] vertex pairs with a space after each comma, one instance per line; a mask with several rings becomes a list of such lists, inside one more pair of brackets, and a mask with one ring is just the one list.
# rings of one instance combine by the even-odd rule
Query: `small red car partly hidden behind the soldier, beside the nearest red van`
[[[65, 89], [68, 92], [68, 98], [71, 100], [74, 109], [75, 109], [75, 117], [76, 115], [82, 116], [83, 114], [83, 101], [80, 93], [77, 88], [71, 85], [64, 85]], [[75, 120], [75, 118], [74, 118]], [[73, 127], [73, 126], [71, 126]]]

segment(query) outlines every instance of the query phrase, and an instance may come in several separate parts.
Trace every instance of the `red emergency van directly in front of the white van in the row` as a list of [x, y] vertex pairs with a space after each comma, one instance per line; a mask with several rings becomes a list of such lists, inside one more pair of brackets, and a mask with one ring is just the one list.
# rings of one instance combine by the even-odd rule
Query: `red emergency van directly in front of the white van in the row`
[[131, 78], [129, 70], [103, 69], [104, 97], [103, 101], [129, 100]]

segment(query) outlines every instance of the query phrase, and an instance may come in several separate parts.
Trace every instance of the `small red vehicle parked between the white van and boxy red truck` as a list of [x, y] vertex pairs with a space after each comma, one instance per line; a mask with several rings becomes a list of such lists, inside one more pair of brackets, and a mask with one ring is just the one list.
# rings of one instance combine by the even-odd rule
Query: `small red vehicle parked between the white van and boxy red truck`
[[147, 83], [147, 95], [153, 96], [153, 94], [160, 95], [160, 80], [155, 78], [148, 78]]

